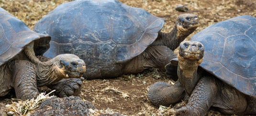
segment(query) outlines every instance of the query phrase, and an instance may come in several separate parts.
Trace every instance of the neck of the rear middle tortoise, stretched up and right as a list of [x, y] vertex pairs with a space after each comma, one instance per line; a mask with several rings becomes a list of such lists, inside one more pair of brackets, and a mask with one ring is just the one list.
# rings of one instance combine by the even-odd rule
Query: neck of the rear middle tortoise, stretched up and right
[[175, 50], [179, 46], [179, 43], [184, 41], [184, 39], [194, 32], [195, 29], [196, 28], [185, 29], [182, 26], [175, 24], [171, 32], [158, 32], [156, 41], [151, 45], [164, 45], [171, 50]]

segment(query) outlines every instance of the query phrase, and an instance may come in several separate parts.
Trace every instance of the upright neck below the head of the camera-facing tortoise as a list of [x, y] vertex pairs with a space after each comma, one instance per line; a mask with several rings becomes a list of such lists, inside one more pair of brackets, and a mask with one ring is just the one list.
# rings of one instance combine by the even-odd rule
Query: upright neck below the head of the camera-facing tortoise
[[200, 79], [200, 74], [197, 72], [199, 64], [195, 62], [189, 60], [178, 62], [178, 79], [188, 95], [191, 95]]

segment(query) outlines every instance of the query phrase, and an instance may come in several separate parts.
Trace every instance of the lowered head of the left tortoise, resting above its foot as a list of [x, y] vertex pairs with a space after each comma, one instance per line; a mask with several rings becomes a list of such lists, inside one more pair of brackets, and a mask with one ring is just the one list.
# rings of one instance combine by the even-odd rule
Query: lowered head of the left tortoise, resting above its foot
[[53, 60], [64, 78], [80, 78], [86, 71], [86, 64], [77, 55], [60, 54]]

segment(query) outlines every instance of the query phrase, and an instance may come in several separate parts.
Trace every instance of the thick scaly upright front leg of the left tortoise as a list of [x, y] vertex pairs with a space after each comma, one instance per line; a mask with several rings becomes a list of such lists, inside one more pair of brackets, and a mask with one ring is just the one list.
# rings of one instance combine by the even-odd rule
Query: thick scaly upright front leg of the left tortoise
[[26, 100], [39, 95], [36, 85], [35, 66], [29, 61], [15, 61], [13, 64], [13, 87], [18, 99]]

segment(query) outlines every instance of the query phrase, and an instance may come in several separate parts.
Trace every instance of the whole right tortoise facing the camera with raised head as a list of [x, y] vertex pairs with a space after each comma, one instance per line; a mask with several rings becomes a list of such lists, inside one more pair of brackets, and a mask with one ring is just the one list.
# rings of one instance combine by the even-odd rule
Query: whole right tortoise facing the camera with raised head
[[[148, 97], [155, 105], [175, 104], [189, 95], [177, 115], [204, 116], [214, 108], [223, 114], [256, 115], [256, 18], [238, 16], [218, 22], [179, 45], [178, 81], [157, 82]], [[168, 103], [168, 104], [165, 104]]]

